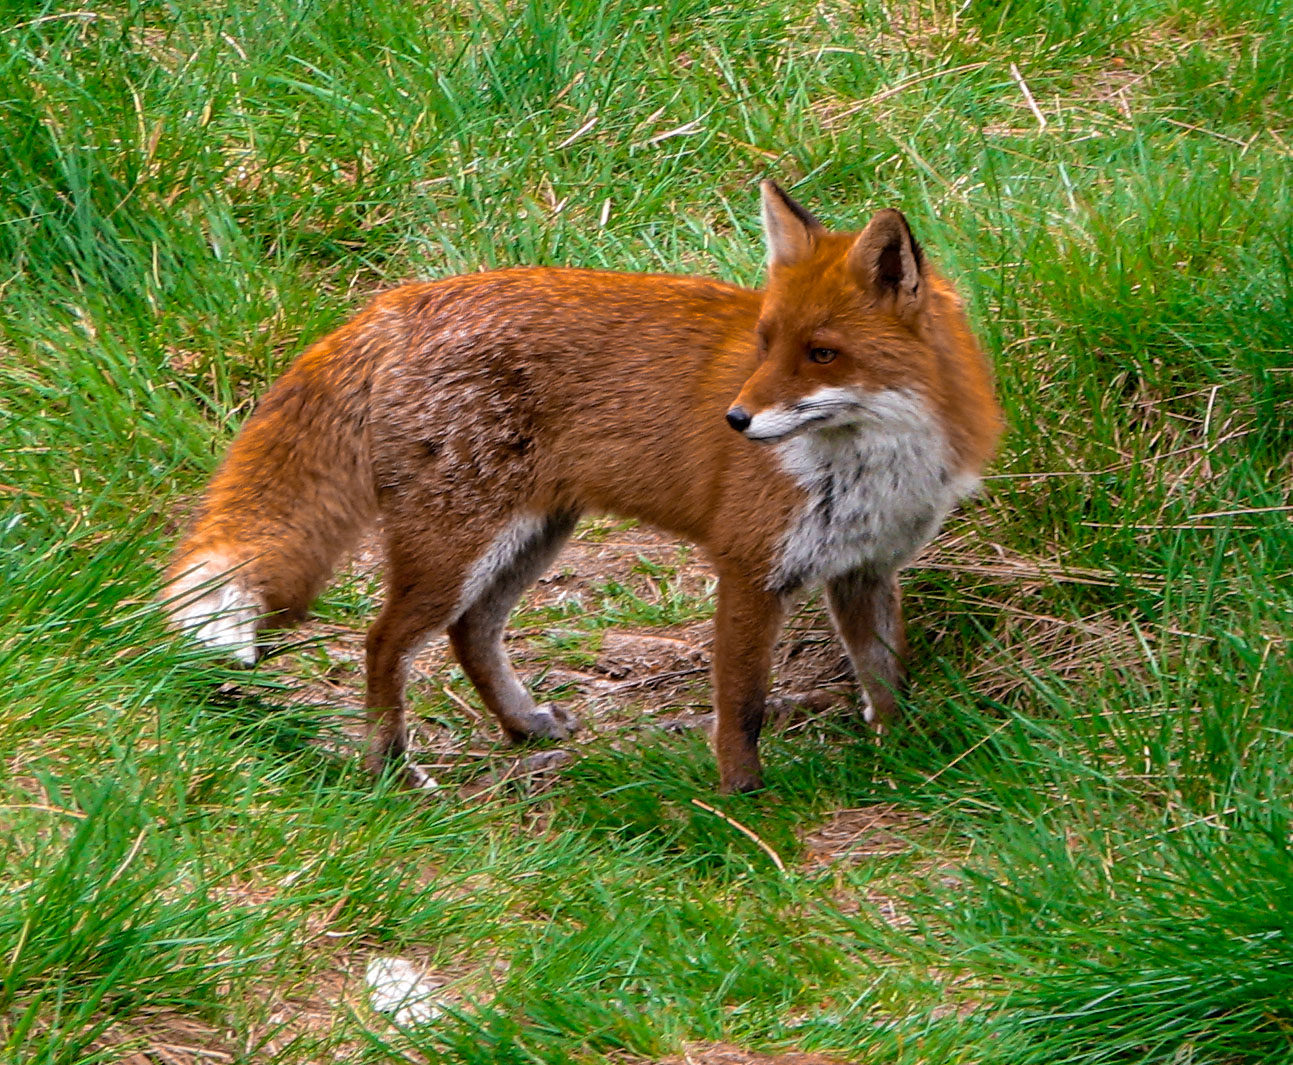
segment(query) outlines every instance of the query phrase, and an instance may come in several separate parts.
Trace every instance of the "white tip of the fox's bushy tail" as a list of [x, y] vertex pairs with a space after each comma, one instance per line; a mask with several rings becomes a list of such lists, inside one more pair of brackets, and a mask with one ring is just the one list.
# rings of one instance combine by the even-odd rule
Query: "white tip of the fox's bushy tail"
[[171, 582], [166, 591], [171, 623], [199, 644], [243, 666], [256, 664], [256, 622], [266, 613], [226, 558], [207, 557]]

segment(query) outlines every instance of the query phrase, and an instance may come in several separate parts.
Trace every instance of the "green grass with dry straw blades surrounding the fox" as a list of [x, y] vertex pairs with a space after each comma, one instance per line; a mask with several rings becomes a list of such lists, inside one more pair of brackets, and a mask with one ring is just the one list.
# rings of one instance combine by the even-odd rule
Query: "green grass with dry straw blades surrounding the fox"
[[[0, 1057], [1293, 1060], [1290, 101], [1281, 0], [0, 5]], [[1007, 411], [883, 746], [813, 720], [720, 800], [700, 737], [615, 733], [412, 797], [164, 635], [305, 341], [481, 266], [756, 283], [763, 177], [900, 206]], [[526, 607], [539, 654], [703, 618], [683, 561]], [[813, 861], [840, 809], [905, 843]], [[445, 1016], [371, 1013], [379, 954]]]

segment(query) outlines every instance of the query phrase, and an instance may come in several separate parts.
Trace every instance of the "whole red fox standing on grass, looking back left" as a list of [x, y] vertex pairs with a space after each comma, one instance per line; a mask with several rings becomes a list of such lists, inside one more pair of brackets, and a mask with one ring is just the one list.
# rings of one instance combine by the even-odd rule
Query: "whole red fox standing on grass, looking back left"
[[693, 540], [718, 571], [724, 791], [762, 787], [772, 649], [807, 585], [825, 585], [883, 725], [904, 679], [897, 570], [974, 490], [1001, 416], [900, 212], [831, 233], [777, 185], [762, 194], [762, 292], [508, 269], [378, 296], [234, 441], [169, 567], [175, 626], [253, 662], [379, 521], [369, 768], [403, 764], [409, 662], [442, 629], [508, 738], [561, 739], [574, 716], [535, 704], [503, 627], [579, 516], [609, 512]]

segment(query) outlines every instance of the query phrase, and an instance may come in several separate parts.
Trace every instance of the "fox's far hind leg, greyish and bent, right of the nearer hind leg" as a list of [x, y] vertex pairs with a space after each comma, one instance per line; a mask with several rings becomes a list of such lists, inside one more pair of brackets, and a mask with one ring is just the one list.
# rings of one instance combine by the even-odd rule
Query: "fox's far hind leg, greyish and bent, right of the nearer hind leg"
[[577, 518], [562, 512], [530, 526], [528, 535], [516, 539], [511, 557], [498, 558], [493, 571], [481, 574], [481, 591], [449, 626], [449, 640], [463, 672], [512, 742], [565, 739], [578, 728], [574, 715], [564, 707], [535, 704], [503, 646], [503, 627], [512, 607], [552, 564]]

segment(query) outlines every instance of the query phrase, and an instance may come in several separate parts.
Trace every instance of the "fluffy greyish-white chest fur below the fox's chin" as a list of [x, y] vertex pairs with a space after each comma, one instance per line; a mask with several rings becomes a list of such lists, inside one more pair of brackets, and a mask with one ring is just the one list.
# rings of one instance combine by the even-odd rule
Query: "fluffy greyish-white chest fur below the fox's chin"
[[771, 583], [794, 588], [856, 569], [893, 573], [937, 532], [978, 478], [954, 474], [941, 427], [908, 390], [871, 393], [856, 424], [776, 445], [808, 498]]

